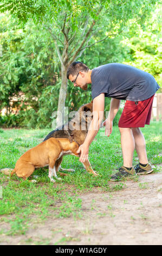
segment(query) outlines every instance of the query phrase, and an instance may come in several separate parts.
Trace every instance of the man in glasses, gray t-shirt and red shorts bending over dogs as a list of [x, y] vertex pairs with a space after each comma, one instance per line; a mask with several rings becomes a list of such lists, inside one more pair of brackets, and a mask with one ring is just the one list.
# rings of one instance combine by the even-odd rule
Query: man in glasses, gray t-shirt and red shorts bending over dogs
[[[88, 159], [89, 145], [99, 131], [103, 118], [105, 96], [112, 97], [105, 134], [111, 135], [113, 119], [118, 112], [120, 101], [126, 100], [124, 110], [119, 120], [123, 166], [111, 180], [120, 180], [123, 176], [151, 173], [152, 167], [148, 163], [145, 138], [139, 127], [150, 124], [153, 96], [159, 89], [154, 77], [145, 71], [133, 66], [109, 63], [90, 70], [82, 62], [73, 62], [67, 70], [67, 78], [74, 86], [83, 90], [87, 84], [92, 84], [93, 119], [85, 142], [80, 146], [78, 153], [80, 161]], [[95, 128], [96, 127], [96, 128]], [[132, 167], [134, 149], [137, 151], [139, 164]]]

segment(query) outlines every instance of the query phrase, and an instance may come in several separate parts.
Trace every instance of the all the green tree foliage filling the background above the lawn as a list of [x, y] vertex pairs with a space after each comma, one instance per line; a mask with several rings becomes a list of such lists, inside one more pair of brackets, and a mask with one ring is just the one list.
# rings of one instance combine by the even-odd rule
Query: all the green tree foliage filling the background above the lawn
[[[68, 31], [69, 61], [94, 22], [92, 33], [75, 59], [90, 69], [111, 62], [135, 65], [150, 72], [161, 84], [160, 23], [158, 19], [148, 19], [151, 10], [159, 10], [159, 1], [1, 2], [0, 11], [4, 14], [0, 15], [0, 108], [7, 113], [0, 115], [0, 125], [51, 126], [63, 75], [55, 44], [57, 41], [62, 56], [66, 47], [63, 24]], [[5, 14], [6, 10], [11, 15]], [[92, 100], [90, 87], [81, 92], [69, 83], [65, 94], [69, 111]], [[106, 100], [106, 110], [108, 107]]]

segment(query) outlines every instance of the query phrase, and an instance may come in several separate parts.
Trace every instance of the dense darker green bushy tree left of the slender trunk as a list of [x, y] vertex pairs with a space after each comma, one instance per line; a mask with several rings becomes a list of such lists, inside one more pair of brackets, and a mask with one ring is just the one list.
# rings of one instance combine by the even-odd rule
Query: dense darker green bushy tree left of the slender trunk
[[[34, 25], [28, 24], [23, 30], [15, 26], [13, 30], [12, 18], [2, 15], [0, 19], [1, 31], [4, 31], [1, 34], [0, 106], [8, 110], [7, 117], [1, 117], [1, 125], [46, 126], [57, 108], [59, 94], [56, 82], [60, 74], [55, 68], [57, 60], [53, 62], [56, 59], [53, 42], [49, 37], [42, 38], [43, 32]], [[6, 27], [3, 23], [7, 23]], [[16, 115], [12, 114], [14, 108]]]

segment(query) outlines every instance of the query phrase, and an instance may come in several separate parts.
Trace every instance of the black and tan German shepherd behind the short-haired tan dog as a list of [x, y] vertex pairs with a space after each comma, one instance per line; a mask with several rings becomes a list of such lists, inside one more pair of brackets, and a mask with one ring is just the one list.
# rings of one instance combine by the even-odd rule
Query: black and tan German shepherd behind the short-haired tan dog
[[[85, 141], [85, 138], [87, 136], [88, 128], [90, 125], [90, 122], [93, 118], [93, 102], [87, 103], [85, 105], [82, 105], [79, 110], [76, 112], [75, 116], [66, 124], [57, 127], [54, 131], [51, 131], [46, 138], [44, 138], [44, 141], [46, 141], [49, 138], [68, 138], [70, 141], [75, 141], [79, 145], [83, 144]], [[68, 155], [68, 154], [63, 154]], [[55, 169], [56, 170], [68, 170], [69, 172], [74, 172], [73, 169], [63, 169], [61, 168], [61, 162], [63, 159], [63, 155], [57, 159], [55, 163]], [[83, 163], [83, 166], [87, 170], [87, 172], [92, 173], [93, 175], [97, 176], [98, 173], [96, 173], [89, 162], [89, 160], [85, 161]], [[63, 173], [60, 173], [61, 175], [66, 175]]]

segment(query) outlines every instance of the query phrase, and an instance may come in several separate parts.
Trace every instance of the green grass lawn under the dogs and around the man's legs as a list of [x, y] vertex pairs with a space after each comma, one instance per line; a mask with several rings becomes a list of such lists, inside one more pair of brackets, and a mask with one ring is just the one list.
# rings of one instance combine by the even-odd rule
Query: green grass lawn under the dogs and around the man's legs
[[[160, 164], [161, 157], [161, 123], [152, 122], [150, 126], [141, 129], [146, 139], [148, 160], [152, 164]], [[16, 161], [28, 149], [43, 141], [50, 130], [0, 129], [0, 169], [14, 168]], [[113, 127], [113, 133], [108, 138], [102, 136], [100, 130], [89, 150], [89, 160], [94, 170], [100, 176], [88, 174], [75, 156], [64, 156], [62, 167], [73, 168], [75, 173], [69, 173], [61, 181], [51, 183], [48, 178], [48, 168], [35, 170], [37, 183], [23, 181], [14, 175], [11, 179], [0, 174], [0, 186], [3, 187], [3, 198], [0, 199], [0, 221], [9, 224], [8, 229], [1, 229], [1, 234], [25, 234], [34, 220], [39, 223], [48, 216], [64, 218], [82, 217], [82, 200], [80, 193], [88, 190], [113, 192], [125, 187], [122, 182], [108, 182], [116, 167], [122, 165], [120, 134], [118, 127]], [[134, 153], [133, 165], [137, 164], [137, 153]], [[158, 169], [154, 169], [158, 172]], [[137, 181], [137, 179], [133, 179]], [[139, 184], [146, 188], [147, 184]], [[113, 217], [113, 216], [112, 216]]]

